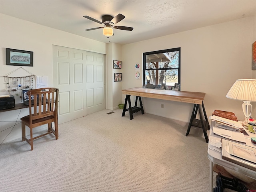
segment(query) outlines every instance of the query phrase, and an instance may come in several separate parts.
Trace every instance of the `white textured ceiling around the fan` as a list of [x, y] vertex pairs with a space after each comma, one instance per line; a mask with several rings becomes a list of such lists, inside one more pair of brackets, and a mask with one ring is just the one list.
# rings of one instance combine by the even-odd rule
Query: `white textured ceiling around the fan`
[[[256, 0], [0, 0], [0, 13], [101, 42], [127, 44], [256, 14]], [[126, 16], [107, 38], [101, 16]]]

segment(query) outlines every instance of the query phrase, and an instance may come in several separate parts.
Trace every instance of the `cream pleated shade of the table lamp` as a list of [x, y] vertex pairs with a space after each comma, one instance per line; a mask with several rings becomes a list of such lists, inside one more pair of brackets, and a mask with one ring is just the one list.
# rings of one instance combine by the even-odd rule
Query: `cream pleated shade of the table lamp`
[[226, 97], [241, 101], [256, 101], [256, 79], [236, 80]]

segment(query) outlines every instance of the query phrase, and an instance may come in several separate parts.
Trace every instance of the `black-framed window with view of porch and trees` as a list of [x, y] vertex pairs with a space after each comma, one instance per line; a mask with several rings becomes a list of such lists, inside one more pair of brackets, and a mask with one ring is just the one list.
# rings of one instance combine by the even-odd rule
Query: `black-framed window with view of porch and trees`
[[180, 84], [180, 47], [143, 53], [143, 86]]

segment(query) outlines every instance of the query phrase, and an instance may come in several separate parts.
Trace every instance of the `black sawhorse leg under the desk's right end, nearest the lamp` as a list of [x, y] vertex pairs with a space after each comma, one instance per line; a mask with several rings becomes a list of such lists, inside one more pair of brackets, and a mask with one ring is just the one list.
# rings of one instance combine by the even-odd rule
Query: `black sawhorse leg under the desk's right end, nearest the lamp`
[[[203, 113], [202, 113], [201, 106], [199, 104], [194, 104], [194, 108], [193, 108], [193, 111], [192, 111], [190, 122], [188, 124], [188, 130], [187, 130], [186, 136], [188, 136], [191, 126], [200, 127], [200, 128], [203, 129], [204, 138], [206, 140], [206, 143], [208, 143], [209, 139], [208, 139], [206, 130], [210, 129], [210, 124], [209, 124], [209, 121], [208, 121], [208, 118], [207, 118], [207, 115], [206, 115], [206, 111], [205, 111], [203, 102], [202, 102], [202, 108], [203, 108], [204, 116], [203, 116]], [[198, 119], [196, 119], [197, 112], [199, 112], [200, 121]]]

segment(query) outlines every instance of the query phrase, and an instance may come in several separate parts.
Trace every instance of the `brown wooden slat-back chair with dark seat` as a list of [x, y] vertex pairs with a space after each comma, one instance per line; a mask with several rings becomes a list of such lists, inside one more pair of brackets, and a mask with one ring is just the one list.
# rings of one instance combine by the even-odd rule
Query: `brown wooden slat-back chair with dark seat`
[[[26, 140], [33, 150], [33, 140], [53, 133], [58, 139], [58, 88], [32, 89], [27, 92], [29, 97], [29, 115], [22, 117], [22, 141]], [[55, 130], [52, 128], [54, 122]], [[32, 129], [48, 124], [48, 131], [33, 138]], [[26, 138], [25, 127], [30, 128], [30, 139]]]

